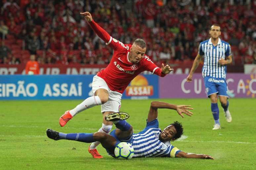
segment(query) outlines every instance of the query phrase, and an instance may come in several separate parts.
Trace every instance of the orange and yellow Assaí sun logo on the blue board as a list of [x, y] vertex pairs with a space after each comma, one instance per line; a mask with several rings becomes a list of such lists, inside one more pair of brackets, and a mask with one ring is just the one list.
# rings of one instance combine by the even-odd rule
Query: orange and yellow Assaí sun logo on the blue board
[[147, 78], [137, 75], [126, 88], [126, 96], [152, 96], [153, 86], [149, 86]]

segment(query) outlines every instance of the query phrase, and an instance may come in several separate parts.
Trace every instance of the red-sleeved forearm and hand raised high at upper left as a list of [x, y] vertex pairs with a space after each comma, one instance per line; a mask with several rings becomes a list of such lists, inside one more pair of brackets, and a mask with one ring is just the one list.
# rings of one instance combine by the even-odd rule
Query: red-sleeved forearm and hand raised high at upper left
[[[93, 31], [105, 42], [109, 43], [111, 41], [110, 35], [100, 27], [92, 18], [92, 15], [89, 12], [80, 13], [80, 15], [84, 16], [85, 20], [92, 27]], [[110, 39], [111, 38], [111, 39]]]

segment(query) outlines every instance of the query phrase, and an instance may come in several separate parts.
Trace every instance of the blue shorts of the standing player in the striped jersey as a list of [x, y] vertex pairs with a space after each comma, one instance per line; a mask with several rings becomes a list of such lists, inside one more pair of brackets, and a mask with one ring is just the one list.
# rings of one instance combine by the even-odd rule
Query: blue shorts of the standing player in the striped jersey
[[212, 94], [218, 94], [218, 96], [226, 96], [229, 98], [227, 94], [228, 87], [225, 78], [206, 76], [204, 77], [204, 85], [207, 97]]

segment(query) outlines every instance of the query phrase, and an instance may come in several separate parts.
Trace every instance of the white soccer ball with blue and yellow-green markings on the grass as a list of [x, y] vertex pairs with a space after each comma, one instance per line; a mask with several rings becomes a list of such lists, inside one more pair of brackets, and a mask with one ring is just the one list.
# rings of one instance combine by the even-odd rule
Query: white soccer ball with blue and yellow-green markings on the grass
[[132, 144], [128, 142], [121, 142], [115, 147], [115, 158], [131, 159], [134, 154]]

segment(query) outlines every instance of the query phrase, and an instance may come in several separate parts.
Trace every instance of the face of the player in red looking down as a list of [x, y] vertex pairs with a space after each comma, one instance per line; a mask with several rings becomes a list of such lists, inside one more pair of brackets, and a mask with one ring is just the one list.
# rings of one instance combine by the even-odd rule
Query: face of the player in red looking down
[[129, 60], [132, 63], [139, 63], [145, 55], [147, 48], [142, 48], [139, 45], [133, 44], [129, 54]]

